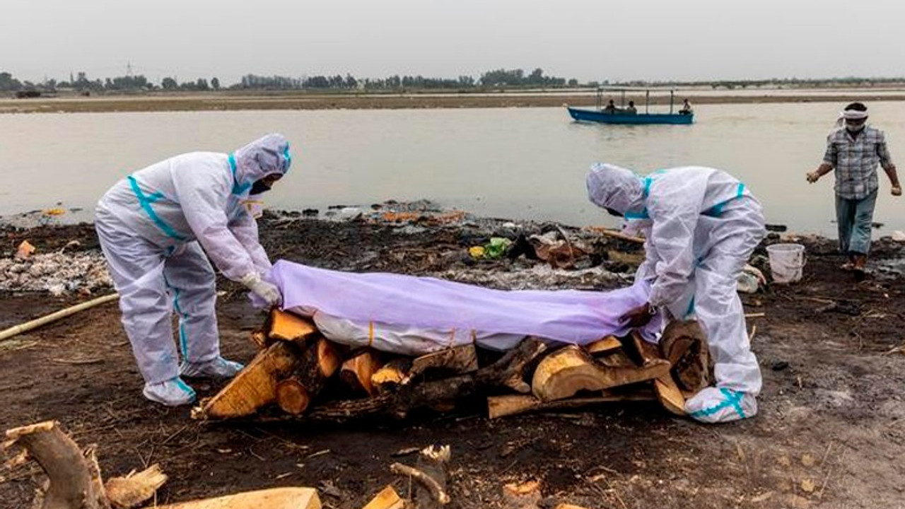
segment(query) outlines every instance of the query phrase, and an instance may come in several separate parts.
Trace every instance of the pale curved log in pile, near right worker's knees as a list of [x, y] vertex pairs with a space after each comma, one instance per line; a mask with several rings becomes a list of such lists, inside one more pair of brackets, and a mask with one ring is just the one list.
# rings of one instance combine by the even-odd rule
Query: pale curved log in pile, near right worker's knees
[[[614, 354], [623, 355], [616, 351], [606, 357]], [[651, 360], [641, 367], [630, 361], [616, 366], [597, 364], [580, 348], [569, 345], [540, 361], [531, 380], [531, 391], [539, 399], [553, 401], [572, 397], [579, 390], [598, 391], [655, 379], [669, 370], [666, 360]]]

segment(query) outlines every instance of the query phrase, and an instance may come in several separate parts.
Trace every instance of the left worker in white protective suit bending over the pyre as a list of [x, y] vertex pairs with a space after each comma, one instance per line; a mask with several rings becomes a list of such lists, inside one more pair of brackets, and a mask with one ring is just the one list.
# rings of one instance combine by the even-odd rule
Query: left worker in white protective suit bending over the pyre
[[228, 378], [242, 370], [242, 364], [220, 356], [208, 257], [263, 302], [281, 302], [279, 289], [262, 279], [271, 262], [258, 242], [252, 206], [290, 163], [289, 143], [269, 134], [232, 154], [168, 158], [120, 180], [100, 198], [95, 228], [146, 398], [184, 405], [195, 399], [195, 391], [180, 375]]

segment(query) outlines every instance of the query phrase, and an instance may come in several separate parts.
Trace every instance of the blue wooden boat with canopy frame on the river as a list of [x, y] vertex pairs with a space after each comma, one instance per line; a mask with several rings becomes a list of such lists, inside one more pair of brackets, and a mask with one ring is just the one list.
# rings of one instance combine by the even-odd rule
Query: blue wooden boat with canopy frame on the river
[[[644, 112], [629, 111], [625, 107], [625, 91], [643, 91], [644, 92]], [[604, 94], [612, 94], [618, 92], [622, 94], [622, 100], [619, 107], [616, 107], [613, 100], [609, 101], [607, 107], [604, 107]], [[599, 122], [604, 124], [691, 124], [694, 122], [694, 112], [689, 110], [679, 110], [673, 112], [673, 100], [675, 91], [670, 92], [670, 110], [668, 113], [651, 113], [650, 89], [629, 89], [629, 88], [599, 88], [597, 89], [596, 105], [594, 109], [572, 108], [566, 106], [569, 116], [577, 121]], [[633, 105], [633, 103], [632, 103]]]

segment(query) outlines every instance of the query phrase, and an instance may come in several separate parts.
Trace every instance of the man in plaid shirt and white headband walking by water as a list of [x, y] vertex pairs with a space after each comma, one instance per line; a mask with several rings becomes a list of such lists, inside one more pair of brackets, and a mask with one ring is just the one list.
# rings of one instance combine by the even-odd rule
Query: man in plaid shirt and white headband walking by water
[[867, 107], [853, 102], [843, 110], [845, 125], [826, 137], [824, 162], [807, 174], [807, 181], [836, 170], [836, 220], [839, 227], [839, 249], [848, 256], [843, 269], [863, 274], [867, 254], [871, 250], [873, 206], [877, 201], [877, 164], [886, 171], [892, 185], [892, 196], [901, 196], [896, 166], [886, 148], [883, 131], [866, 125]]

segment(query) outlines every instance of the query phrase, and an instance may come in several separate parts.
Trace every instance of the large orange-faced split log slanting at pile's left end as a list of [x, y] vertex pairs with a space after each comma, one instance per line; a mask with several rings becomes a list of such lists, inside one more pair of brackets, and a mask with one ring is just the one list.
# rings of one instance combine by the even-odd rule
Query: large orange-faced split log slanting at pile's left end
[[276, 400], [277, 381], [285, 378], [300, 357], [294, 343], [276, 341], [248, 363], [239, 374], [214, 395], [202, 401], [201, 411], [193, 418], [240, 418], [250, 416]]

